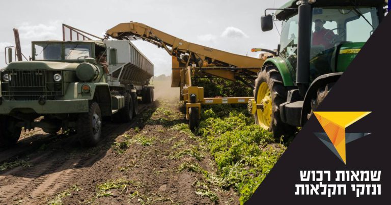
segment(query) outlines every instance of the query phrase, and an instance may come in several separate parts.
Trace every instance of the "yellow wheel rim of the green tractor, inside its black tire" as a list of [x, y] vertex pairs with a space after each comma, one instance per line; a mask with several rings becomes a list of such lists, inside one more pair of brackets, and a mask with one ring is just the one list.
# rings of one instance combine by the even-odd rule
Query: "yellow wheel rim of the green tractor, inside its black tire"
[[258, 124], [264, 129], [269, 129], [273, 106], [271, 102], [270, 89], [266, 82], [262, 82], [259, 86], [257, 93], [257, 104], [261, 104], [260, 107], [257, 107], [256, 113]]

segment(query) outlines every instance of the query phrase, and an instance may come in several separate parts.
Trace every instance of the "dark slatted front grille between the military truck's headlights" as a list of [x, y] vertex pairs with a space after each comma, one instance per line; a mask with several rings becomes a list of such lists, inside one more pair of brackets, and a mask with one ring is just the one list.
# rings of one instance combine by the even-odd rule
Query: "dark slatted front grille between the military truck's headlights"
[[6, 70], [10, 80], [2, 81], [2, 95], [10, 100], [38, 100], [40, 96], [54, 99], [63, 96], [63, 82], [53, 80], [53, 71], [43, 70]]

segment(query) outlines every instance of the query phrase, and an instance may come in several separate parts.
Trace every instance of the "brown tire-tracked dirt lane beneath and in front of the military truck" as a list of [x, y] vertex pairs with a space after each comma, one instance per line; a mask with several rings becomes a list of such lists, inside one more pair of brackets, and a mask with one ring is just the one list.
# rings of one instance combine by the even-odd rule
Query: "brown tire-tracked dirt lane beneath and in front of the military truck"
[[[140, 115], [131, 123], [121, 125], [107, 123], [102, 130], [103, 140], [98, 144], [98, 147], [89, 149], [95, 149], [98, 153], [86, 153], [86, 149], [80, 148], [77, 145], [75, 146], [75, 141], [77, 140], [75, 139], [76, 135], [67, 136], [59, 142], [53, 142], [55, 141], [53, 138], [47, 140], [40, 140], [38, 138], [37, 141], [40, 144], [38, 142], [36, 143], [36, 149], [23, 150], [26, 145], [22, 144], [17, 151], [11, 150], [11, 157], [4, 158], [5, 160], [22, 155], [25, 158], [31, 157], [26, 162], [33, 164], [33, 166], [29, 168], [18, 166], [0, 175], [0, 204], [13, 203], [12, 199], [15, 198], [27, 198], [27, 201], [24, 202], [35, 203], [35, 199], [37, 198], [55, 194], [60, 188], [68, 185], [70, 181], [82, 175], [86, 167], [92, 166], [99, 158], [105, 155], [105, 152], [102, 152], [105, 149], [102, 148], [107, 145], [107, 138], [115, 134], [120, 134], [131, 126], [134, 126], [140, 116], [142, 116], [141, 113], [151, 106], [139, 106]], [[45, 142], [49, 143], [49, 148], [52, 148], [53, 144], [60, 144], [60, 150], [53, 149], [36, 152]], [[71, 149], [66, 151], [65, 148]], [[7, 150], [2, 153], [6, 154]]]

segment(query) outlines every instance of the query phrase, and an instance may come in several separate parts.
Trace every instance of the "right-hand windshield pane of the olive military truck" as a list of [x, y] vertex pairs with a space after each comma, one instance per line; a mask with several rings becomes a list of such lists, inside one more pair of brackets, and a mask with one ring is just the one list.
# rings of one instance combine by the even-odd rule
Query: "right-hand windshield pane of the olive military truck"
[[90, 44], [65, 44], [64, 49], [65, 60], [82, 60], [91, 57]]

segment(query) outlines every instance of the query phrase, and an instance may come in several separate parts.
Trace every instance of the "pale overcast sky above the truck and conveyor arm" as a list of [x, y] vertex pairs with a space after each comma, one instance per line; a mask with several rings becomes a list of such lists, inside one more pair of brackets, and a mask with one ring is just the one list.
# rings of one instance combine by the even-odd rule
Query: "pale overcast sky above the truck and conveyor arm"
[[[5, 66], [4, 47], [15, 44], [12, 28], [18, 28], [22, 53], [29, 56], [31, 41], [62, 40], [62, 23], [103, 36], [119, 23], [141, 22], [188, 42], [257, 56], [251, 48], [275, 49], [279, 39], [275, 28], [261, 31], [260, 17], [266, 8], [286, 1], [6, 1], [0, 7], [0, 68]], [[163, 49], [132, 42], [155, 65], [155, 75], [171, 74], [171, 56]]]

